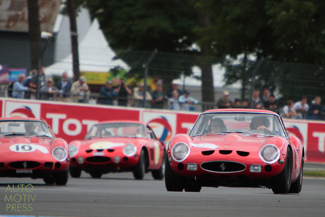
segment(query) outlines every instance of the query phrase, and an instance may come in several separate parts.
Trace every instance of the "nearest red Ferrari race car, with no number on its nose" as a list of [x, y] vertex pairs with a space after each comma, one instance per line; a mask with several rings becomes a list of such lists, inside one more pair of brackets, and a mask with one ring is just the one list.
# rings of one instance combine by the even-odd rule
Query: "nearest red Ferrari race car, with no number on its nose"
[[215, 109], [202, 113], [188, 135], [170, 140], [166, 162], [167, 191], [223, 186], [299, 193], [304, 147], [272, 111]]

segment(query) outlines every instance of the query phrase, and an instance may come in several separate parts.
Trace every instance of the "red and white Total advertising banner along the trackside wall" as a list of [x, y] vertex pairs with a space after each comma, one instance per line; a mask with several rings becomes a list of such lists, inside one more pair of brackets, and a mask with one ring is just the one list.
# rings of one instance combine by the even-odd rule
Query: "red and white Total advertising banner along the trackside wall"
[[[2, 117], [36, 117], [46, 120], [56, 137], [68, 143], [82, 140], [94, 123], [105, 120], [140, 120], [148, 123], [156, 136], [168, 143], [172, 136], [187, 133], [200, 115], [199, 112], [175, 112], [59, 103], [31, 100], [0, 99]], [[305, 161], [325, 163], [325, 121], [284, 119], [290, 135], [297, 136], [305, 149]]]

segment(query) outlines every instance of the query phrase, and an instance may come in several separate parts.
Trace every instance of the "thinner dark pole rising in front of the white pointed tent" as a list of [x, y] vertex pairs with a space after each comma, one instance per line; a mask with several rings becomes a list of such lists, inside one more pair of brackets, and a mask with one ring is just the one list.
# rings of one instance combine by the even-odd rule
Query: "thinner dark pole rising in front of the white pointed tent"
[[78, 53], [78, 32], [76, 23], [76, 7], [74, 0], [68, 0], [68, 11], [70, 17], [70, 37], [72, 51], [73, 81], [79, 79], [79, 53]]

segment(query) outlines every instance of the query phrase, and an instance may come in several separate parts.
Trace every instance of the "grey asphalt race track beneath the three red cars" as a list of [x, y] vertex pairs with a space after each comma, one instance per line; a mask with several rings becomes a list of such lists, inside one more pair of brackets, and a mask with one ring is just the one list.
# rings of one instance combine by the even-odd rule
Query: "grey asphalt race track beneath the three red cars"
[[[19, 184], [25, 184], [24, 188], [17, 188]], [[10, 195], [16, 201], [22, 199], [8, 202]], [[27, 195], [25, 201], [23, 195]], [[314, 217], [325, 215], [325, 180], [305, 177], [300, 194], [274, 195], [270, 189], [224, 187], [202, 188], [200, 193], [167, 192], [165, 182], [153, 180], [150, 173], [144, 180], [134, 180], [132, 173], [107, 174], [101, 179], [82, 173], [64, 187], [45, 185], [42, 179], [0, 178], [0, 200], [0, 216]], [[7, 207], [15, 204], [17, 208], [18, 203], [32, 211]]]

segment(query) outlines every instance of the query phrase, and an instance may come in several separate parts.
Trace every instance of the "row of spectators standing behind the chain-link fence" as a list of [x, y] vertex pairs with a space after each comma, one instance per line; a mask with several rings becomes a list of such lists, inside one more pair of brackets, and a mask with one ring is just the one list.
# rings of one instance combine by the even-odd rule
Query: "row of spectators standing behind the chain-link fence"
[[[37, 88], [39, 96], [37, 97]], [[52, 78], [45, 79], [44, 67], [40, 72], [31, 70], [29, 76], [24, 74], [17, 77], [17, 81], [10, 87], [13, 98], [19, 99], [41, 99], [50, 101], [88, 103], [90, 99], [90, 89], [86, 78], [80, 76], [75, 82], [68, 78], [67, 72], [61, 74], [61, 78], [53, 84]], [[199, 101], [190, 96], [190, 91], [179, 89], [179, 83], [175, 80], [166, 95], [163, 92], [163, 83], [157, 80], [154, 88], [150, 91], [143, 83], [131, 88], [126, 85], [123, 78], [118, 82], [106, 81], [100, 88], [96, 102], [102, 105], [119, 105], [146, 107], [153, 109], [171, 109], [177, 111], [194, 111]], [[325, 108], [321, 105], [321, 97], [315, 96], [308, 103], [306, 96], [301, 96], [297, 102], [287, 100], [284, 106], [278, 106], [278, 102], [269, 89], [264, 89], [262, 95], [258, 89], [253, 90], [249, 100], [230, 100], [230, 92], [224, 90], [220, 99], [217, 100], [214, 108], [251, 108], [266, 109], [278, 113], [282, 118], [295, 119], [325, 119]]]

